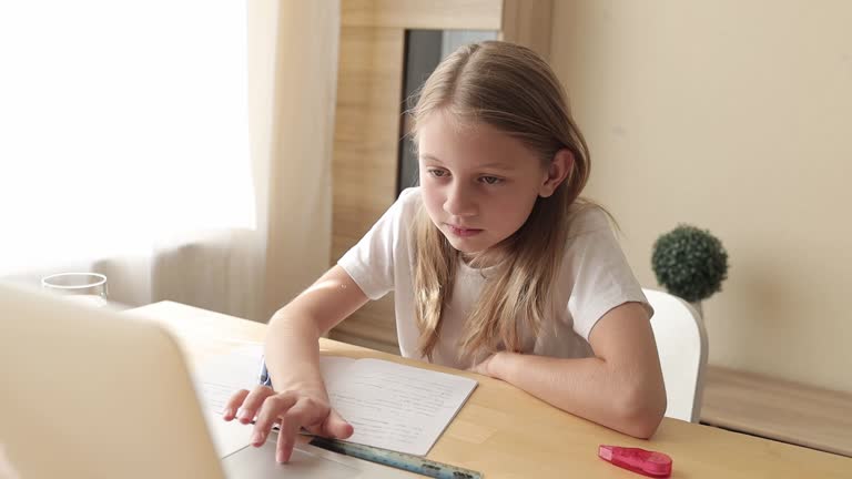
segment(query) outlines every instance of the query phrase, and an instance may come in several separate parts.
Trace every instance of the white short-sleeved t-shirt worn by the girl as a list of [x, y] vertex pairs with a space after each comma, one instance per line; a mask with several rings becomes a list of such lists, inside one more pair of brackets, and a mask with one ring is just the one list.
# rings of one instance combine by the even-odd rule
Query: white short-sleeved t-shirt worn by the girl
[[[419, 187], [403, 191], [373, 228], [337, 264], [371, 299], [395, 293], [396, 328], [405, 357], [426, 359], [417, 353], [419, 330], [414, 308], [412, 242], [414, 218], [420, 205]], [[589, 334], [604, 314], [628, 302], [643, 303], [642, 288], [612, 233], [606, 213], [584, 208], [572, 218], [568, 245], [552, 287], [551, 317], [544, 318], [537, 337], [520, 328], [521, 353], [561, 358], [592, 356]], [[433, 360], [466, 369], [458, 355], [464, 323], [481, 291], [485, 275], [464, 262], [452, 302], [443, 308], [440, 339]], [[469, 359], [468, 359], [469, 360]]]

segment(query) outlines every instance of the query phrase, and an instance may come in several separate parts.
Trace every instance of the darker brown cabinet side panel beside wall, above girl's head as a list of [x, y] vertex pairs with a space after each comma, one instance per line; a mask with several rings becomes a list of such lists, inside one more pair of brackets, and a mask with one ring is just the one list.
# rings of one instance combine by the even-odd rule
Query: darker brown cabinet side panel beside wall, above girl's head
[[505, 0], [500, 39], [523, 44], [550, 60], [552, 0]]

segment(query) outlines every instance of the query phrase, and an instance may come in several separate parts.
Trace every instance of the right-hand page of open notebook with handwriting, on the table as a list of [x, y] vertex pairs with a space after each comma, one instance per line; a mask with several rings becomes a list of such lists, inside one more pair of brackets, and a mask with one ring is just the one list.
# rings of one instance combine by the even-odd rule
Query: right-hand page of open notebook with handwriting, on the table
[[347, 440], [426, 455], [476, 388], [476, 380], [379, 359], [358, 359], [326, 380], [334, 407], [355, 428]]

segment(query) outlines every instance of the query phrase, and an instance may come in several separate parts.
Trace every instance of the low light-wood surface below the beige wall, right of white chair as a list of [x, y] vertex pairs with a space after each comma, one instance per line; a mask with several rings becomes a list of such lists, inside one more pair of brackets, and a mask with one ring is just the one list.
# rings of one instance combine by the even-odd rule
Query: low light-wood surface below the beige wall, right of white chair
[[852, 457], [852, 395], [710, 367], [701, 421]]

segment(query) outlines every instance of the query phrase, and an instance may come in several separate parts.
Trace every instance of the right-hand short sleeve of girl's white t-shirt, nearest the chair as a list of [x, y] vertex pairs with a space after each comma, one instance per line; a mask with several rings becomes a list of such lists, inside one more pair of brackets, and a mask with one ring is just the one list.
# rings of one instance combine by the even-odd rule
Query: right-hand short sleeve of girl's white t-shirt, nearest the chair
[[572, 227], [562, 268], [572, 279], [568, 312], [574, 330], [587, 342], [591, 329], [610, 309], [625, 303], [645, 305], [652, 309], [633, 276], [606, 213], [590, 207], [578, 215]]

